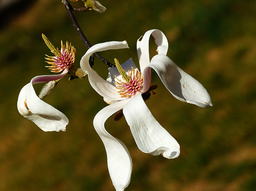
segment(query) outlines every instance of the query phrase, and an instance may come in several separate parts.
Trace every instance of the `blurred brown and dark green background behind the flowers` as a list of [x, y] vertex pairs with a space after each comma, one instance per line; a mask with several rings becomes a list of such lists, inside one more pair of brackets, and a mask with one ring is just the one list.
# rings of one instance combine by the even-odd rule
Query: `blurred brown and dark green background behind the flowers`
[[[4, 2], [4, 0], [2, 0]], [[44, 101], [69, 118], [66, 132], [44, 132], [16, 108], [21, 88], [52, 74], [41, 38], [57, 47], [71, 42], [75, 66], [86, 48], [61, 0], [35, 0], [1, 15], [0, 190], [114, 191], [106, 151], [92, 122], [107, 104], [84, 80], [61, 80]], [[100, 54], [113, 63], [133, 58], [136, 40], [159, 29], [169, 56], [208, 90], [213, 107], [175, 99], [152, 71], [156, 95], [146, 101], [159, 123], [181, 146], [176, 159], [142, 153], [122, 118], [106, 129], [130, 151], [133, 172], [127, 191], [253, 191], [256, 188], [256, 1], [102, 0], [106, 12], [75, 13], [89, 42], [126, 40], [130, 49]], [[80, 3], [72, 3], [79, 6]], [[19, 14], [15, 14], [19, 12]], [[5, 22], [3, 22], [5, 21]], [[150, 56], [156, 46], [150, 41]], [[95, 59], [103, 77], [108, 66]], [[39, 92], [42, 84], [34, 86]]]

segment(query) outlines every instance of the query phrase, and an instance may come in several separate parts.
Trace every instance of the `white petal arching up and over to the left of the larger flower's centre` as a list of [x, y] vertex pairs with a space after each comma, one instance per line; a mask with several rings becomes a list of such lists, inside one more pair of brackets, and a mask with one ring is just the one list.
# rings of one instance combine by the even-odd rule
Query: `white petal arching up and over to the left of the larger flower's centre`
[[106, 82], [103, 78], [101, 78], [97, 72], [95, 72], [89, 65], [89, 58], [91, 54], [95, 52], [100, 52], [104, 50], [111, 49], [121, 49], [121, 48], [129, 48], [126, 41], [123, 42], [104, 42], [100, 44], [95, 44], [81, 58], [80, 66], [81, 69], [88, 74], [89, 82], [93, 89], [98, 92], [102, 97], [111, 100], [122, 100], [124, 98], [120, 97], [117, 93], [118, 90], [112, 84]]

